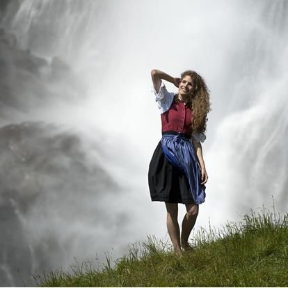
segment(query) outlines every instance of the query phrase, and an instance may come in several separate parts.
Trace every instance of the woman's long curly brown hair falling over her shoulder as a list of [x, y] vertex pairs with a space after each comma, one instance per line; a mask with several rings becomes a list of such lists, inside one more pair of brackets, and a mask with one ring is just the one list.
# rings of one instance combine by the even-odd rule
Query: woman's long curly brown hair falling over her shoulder
[[[192, 70], [186, 70], [181, 74], [181, 80], [189, 75], [192, 79], [192, 92], [186, 105], [193, 112], [191, 120], [191, 129], [194, 133], [204, 133], [206, 130], [207, 114], [211, 111], [210, 93], [205, 80]], [[178, 94], [174, 97], [175, 102], [179, 102]]]

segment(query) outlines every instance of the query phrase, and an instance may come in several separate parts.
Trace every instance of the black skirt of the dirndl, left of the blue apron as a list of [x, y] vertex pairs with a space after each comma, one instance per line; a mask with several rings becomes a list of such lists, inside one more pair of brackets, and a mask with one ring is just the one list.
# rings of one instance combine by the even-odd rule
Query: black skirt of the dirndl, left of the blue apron
[[186, 175], [167, 159], [161, 141], [150, 161], [148, 183], [152, 201], [194, 203]]

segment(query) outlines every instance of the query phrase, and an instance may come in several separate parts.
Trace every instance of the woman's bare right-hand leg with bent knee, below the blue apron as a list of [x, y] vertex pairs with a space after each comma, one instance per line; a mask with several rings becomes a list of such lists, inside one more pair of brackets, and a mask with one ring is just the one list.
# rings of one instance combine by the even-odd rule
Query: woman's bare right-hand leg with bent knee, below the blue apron
[[181, 233], [181, 246], [185, 250], [191, 248], [188, 244], [188, 239], [198, 216], [199, 205], [186, 204], [186, 211], [187, 213], [185, 214], [182, 221], [182, 233]]

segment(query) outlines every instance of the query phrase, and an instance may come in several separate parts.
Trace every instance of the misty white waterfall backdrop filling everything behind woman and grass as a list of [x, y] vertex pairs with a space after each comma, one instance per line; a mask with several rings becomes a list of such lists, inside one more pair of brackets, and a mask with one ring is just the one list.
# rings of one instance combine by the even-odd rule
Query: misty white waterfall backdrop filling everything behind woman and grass
[[165, 236], [147, 187], [161, 136], [152, 68], [192, 68], [211, 90], [198, 227], [238, 221], [271, 195], [285, 211], [287, 6], [2, 1], [1, 285]]

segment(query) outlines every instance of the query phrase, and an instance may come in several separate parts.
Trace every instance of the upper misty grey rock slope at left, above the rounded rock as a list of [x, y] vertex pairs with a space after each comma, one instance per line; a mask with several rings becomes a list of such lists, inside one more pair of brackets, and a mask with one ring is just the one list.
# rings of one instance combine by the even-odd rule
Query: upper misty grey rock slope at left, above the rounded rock
[[12, 33], [0, 29], [0, 120], [29, 113], [55, 102], [80, 103], [85, 88], [70, 66], [55, 56], [44, 58], [17, 47]]

